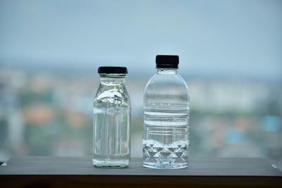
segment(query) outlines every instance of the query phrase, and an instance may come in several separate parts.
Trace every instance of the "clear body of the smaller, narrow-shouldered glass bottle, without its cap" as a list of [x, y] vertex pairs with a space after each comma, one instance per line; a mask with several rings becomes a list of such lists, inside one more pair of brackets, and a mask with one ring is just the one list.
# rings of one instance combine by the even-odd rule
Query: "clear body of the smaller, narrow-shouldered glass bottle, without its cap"
[[93, 165], [125, 168], [130, 162], [130, 99], [125, 74], [100, 74], [93, 105]]

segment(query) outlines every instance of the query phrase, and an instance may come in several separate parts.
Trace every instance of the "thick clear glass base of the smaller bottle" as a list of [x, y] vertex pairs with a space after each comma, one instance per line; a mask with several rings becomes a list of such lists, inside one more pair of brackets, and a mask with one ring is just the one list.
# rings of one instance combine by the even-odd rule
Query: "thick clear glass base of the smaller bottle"
[[127, 168], [129, 160], [97, 160], [92, 158], [94, 167], [97, 168]]

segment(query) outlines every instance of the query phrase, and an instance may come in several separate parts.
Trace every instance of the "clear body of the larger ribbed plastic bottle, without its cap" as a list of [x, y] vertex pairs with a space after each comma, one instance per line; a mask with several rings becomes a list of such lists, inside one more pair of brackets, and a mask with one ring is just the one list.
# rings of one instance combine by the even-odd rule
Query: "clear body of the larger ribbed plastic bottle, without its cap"
[[176, 69], [159, 68], [145, 87], [143, 165], [177, 169], [188, 166], [188, 86]]

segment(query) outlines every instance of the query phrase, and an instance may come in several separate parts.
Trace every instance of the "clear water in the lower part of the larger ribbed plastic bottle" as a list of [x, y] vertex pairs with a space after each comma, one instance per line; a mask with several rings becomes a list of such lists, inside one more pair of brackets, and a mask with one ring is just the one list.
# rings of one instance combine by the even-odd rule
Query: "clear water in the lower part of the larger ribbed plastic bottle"
[[149, 168], [187, 167], [188, 128], [187, 111], [145, 111], [143, 165]]

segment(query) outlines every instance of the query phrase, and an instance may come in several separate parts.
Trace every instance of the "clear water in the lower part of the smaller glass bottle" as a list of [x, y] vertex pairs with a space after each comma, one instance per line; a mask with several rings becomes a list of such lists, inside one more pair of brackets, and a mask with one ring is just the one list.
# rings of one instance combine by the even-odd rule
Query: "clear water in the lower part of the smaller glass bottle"
[[104, 168], [128, 166], [130, 123], [128, 108], [94, 108], [93, 164]]

